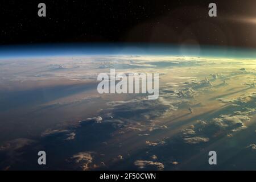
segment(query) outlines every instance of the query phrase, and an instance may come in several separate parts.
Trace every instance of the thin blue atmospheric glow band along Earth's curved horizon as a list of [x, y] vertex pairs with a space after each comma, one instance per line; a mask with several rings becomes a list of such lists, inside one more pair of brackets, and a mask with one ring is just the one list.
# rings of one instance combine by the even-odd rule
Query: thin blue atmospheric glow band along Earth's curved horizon
[[68, 55], [179, 55], [255, 58], [254, 49], [170, 44], [43, 44], [1, 46], [0, 59]]

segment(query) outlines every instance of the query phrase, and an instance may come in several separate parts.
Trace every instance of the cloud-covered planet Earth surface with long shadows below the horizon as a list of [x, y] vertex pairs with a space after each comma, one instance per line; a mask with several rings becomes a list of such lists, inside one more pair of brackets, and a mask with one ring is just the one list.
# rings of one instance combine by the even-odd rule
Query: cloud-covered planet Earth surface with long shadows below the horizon
[[[0, 169], [256, 169], [255, 57], [134, 49], [2, 55]], [[159, 73], [158, 99], [98, 93], [110, 69]]]

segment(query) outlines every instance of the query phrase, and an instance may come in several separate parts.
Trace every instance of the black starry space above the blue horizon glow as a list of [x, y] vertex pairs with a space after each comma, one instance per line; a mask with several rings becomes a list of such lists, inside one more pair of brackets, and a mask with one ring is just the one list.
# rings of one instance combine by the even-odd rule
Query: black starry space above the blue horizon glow
[[[38, 3], [47, 16], [38, 17]], [[217, 17], [208, 16], [210, 2]], [[0, 2], [0, 44], [171, 43], [256, 48], [256, 1]]]

